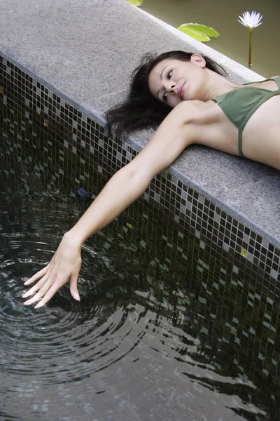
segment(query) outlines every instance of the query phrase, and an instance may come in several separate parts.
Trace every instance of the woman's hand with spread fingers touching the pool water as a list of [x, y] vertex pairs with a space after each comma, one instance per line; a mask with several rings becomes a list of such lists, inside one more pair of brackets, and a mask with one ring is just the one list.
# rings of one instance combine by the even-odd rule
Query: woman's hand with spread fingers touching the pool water
[[71, 295], [75, 300], [80, 301], [77, 288], [78, 274], [82, 262], [80, 249], [80, 243], [74, 241], [69, 233], [64, 234], [50, 263], [25, 282], [25, 285], [30, 285], [39, 279], [36, 285], [22, 295], [22, 298], [27, 298], [35, 294], [24, 304], [31, 305], [41, 300], [35, 308], [43, 307], [69, 279]]

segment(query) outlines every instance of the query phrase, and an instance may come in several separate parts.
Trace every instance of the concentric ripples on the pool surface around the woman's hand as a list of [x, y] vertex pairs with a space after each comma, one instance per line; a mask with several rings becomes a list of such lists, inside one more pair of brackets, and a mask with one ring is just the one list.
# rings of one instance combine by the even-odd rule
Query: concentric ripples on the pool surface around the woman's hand
[[[31, 241], [15, 242], [18, 234], [4, 236], [8, 243], [16, 244], [17, 255], [25, 255], [20, 251], [22, 246], [29, 247]], [[130, 349], [137, 346], [144, 333], [138, 333], [138, 339], [130, 349], [122, 349], [123, 340], [130, 335], [134, 319], [127, 320], [129, 311], [112, 302], [112, 295], [107, 291], [106, 300], [95, 295], [96, 302], [88, 305], [74, 302], [67, 287], [57, 294], [50, 304], [40, 310], [24, 306], [22, 293], [27, 290], [23, 282], [34, 267], [45, 265], [52, 250], [46, 250], [47, 241], [37, 243], [36, 253], [41, 259], [10, 258], [1, 261], [0, 290], [0, 370], [8, 375], [36, 375], [46, 383], [69, 382], [90, 376], [97, 370], [111, 366]], [[53, 239], [52, 239], [53, 243]], [[34, 251], [34, 245], [33, 251]], [[12, 248], [13, 249], [13, 248]], [[42, 256], [42, 252], [45, 256]], [[97, 253], [89, 247], [85, 250], [85, 261]], [[5, 250], [0, 250], [5, 255]], [[9, 250], [9, 255], [13, 250]], [[95, 265], [106, 269], [106, 274], [99, 273], [99, 281], [111, 273], [109, 259], [99, 259]], [[95, 272], [95, 271], [94, 271]], [[96, 273], [96, 272], [95, 272]], [[115, 288], [118, 293], [124, 289]], [[85, 279], [80, 280], [80, 293], [87, 296], [95, 290]], [[109, 298], [108, 298], [109, 295]], [[109, 302], [106, 302], [108, 301]]]

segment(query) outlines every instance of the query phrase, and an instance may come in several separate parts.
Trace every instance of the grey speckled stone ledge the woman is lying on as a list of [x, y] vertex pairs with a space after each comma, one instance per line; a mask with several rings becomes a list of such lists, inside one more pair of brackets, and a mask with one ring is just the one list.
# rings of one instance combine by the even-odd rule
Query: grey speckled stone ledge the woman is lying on
[[[0, 55], [92, 119], [125, 98], [148, 51], [209, 55], [236, 83], [264, 79], [125, 0], [0, 0]], [[153, 131], [127, 142], [141, 150]], [[280, 172], [193, 145], [169, 168], [247, 227], [280, 247]]]

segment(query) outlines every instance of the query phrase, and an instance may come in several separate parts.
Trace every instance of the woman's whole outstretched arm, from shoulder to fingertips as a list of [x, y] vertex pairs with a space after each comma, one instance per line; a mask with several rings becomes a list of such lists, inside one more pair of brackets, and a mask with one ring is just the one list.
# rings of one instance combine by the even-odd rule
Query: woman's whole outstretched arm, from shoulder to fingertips
[[25, 305], [41, 300], [35, 307], [42, 307], [69, 279], [71, 295], [80, 300], [77, 281], [83, 242], [113, 221], [145, 192], [153, 177], [167, 168], [190, 145], [192, 130], [192, 125], [186, 122], [183, 103], [177, 105], [146, 147], [127, 166], [113, 175], [76, 225], [64, 234], [48, 266], [25, 282], [28, 286], [38, 281], [22, 295], [23, 298], [33, 295]]

